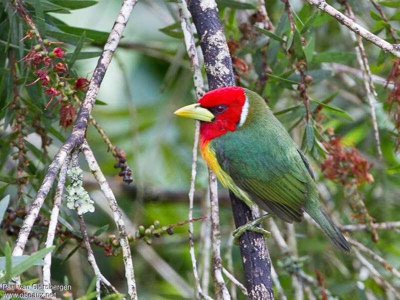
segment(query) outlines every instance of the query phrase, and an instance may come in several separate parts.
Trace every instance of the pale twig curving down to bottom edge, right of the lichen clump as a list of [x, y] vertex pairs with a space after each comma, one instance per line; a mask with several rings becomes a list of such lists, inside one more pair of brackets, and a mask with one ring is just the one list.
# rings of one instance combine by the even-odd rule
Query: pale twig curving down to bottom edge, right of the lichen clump
[[93, 173], [94, 178], [96, 178], [98, 184], [100, 185], [100, 189], [107, 198], [108, 204], [112, 210], [113, 218], [118, 228], [119, 243], [122, 248], [123, 263], [125, 265], [125, 277], [128, 285], [128, 294], [130, 299], [137, 300], [136, 283], [133, 273], [133, 262], [130, 254], [129, 241], [126, 236], [126, 229], [123, 222], [121, 210], [118, 206], [118, 203], [116, 202], [115, 196], [111, 188], [108, 185], [108, 181], [105, 179], [104, 174], [102, 173], [96, 159], [94, 158], [93, 152], [87, 144], [86, 140], [83, 140], [80, 149], [86, 158], [90, 171]]

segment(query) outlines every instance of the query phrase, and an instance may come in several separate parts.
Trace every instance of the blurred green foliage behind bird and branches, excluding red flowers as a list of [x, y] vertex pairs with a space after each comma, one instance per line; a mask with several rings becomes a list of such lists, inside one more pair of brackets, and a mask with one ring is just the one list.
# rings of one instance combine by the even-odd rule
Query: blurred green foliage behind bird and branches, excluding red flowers
[[[400, 157], [395, 152], [395, 125], [388, 114], [389, 107], [386, 103], [391, 91], [390, 86], [385, 88], [384, 81], [375, 82], [378, 103], [375, 103], [374, 107], [383, 153], [383, 159], [380, 161], [377, 159], [370, 110], [361, 77], [337, 72], [330, 65], [334, 62], [359, 69], [354, 54], [354, 43], [349, 38], [347, 28], [308, 3], [292, 0], [291, 13], [296, 30], [291, 32], [284, 4], [279, 0], [268, 0], [266, 9], [275, 29], [265, 32], [262, 28], [252, 27], [251, 17], [250, 21], [248, 20], [248, 16], [256, 11], [254, 2], [217, 2], [227, 40], [239, 44], [232, 54], [243, 59], [248, 65], [246, 73], [235, 66], [237, 84], [257, 90], [285, 127], [290, 129], [293, 139], [299, 145], [305, 140], [303, 148], [308, 149], [307, 156], [311, 159], [321, 198], [329, 213], [342, 224], [357, 223], [357, 219], [351, 217], [351, 206], [348, 197], [344, 195], [343, 187], [324, 178], [320, 171], [320, 164], [326, 156], [320, 144], [327, 138], [327, 129], [333, 128], [337, 136], [343, 137], [345, 143], [357, 148], [360, 156], [373, 164], [370, 173], [375, 179], [374, 182], [363, 183], [358, 187], [358, 192], [364, 196], [369, 214], [376, 222], [398, 220]], [[337, 2], [330, 2], [342, 9]], [[398, 36], [398, 6], [393, 6], [398, 5], [398, 1], [379, 2], [383, 5], [388, 23], [373, 10], [370, 2], [350, 0], [349, 3], [363, 26], [379, 32], [379, 35], [389, 42], [393, 40], [388, 33], [388, 27], [391, 26]], [[43, 38], [64, 42], [61, 47], [66, 51], [66, 60], [62, 62], [70, 66], [73, 63], [73, 67], [68, 70], [70, 77], [89, 79], [101, 46], [108, 36], [107, 32], [119, 11], [120, 1], [25, 0], [24, 5]], [[3, 0], [0, 6], [0, 194], [10, 194], [9, 207], [15, 209], [18, 205], [28, 206], [31, 203], [51, 157], [70, 132], [70, 128], [64, 130], [59, 126], [60, 104], [53, 110], [44, 110], [49, 97], [43, 93], [44, 88], [41, 88], [39, 83], [26, 86], [37, 76], [21, 59], [36, 44], [36, 40], [32, 37], [19, 42], [26, 35], [28, 26], [9, 1]], [[246, 24], [243, 25], [243, 22]], [[126, 152], [127, 163], [132, 169], [133, 185], [136, 187], [134, 192], [117, 176], [118, 170], [113, 167], [115, 158], [107, 152], [106, 144], [93, 126], [88, 126], [86, 137], [102, 171], [110, 178], [115, 188], [118, 203], [135, 225], [148, 226], [155, 219], [159, 220], [161, 225], [176, 223], [187, 219], [187, 202], [180, 201], [182, 197], [178, 195], [184, 195], [189, 186], [194, 123], [188, 119], [177, 118], [172, 112], [183, 104], [195, 101], [195, 94], [175, 3], [159, 0], [139, 1], [123, 35], [102, 82], [99, 101], [94, 106], [92, 116], [105, 130], [111, 142]], [[364, 45], [371, 72], [386, 78], [391, 71], [394, 57], [368, 42], [364, 42]], [[51, 47], [55, 46], [59, 45]], [[75, 51], [76, 47], [80, 46], [81, 50]], [[22, 187], [18, 200], [16, 161], [11, 157], [17, 149], [9, 146], [15, 139], [11, 130], [15, 123], [15, 109], [10, 107], [13, 101], [11, 55], [14, 55], [16, 61], [18, 101], [21, 105], [26, 105], [28, 110], [25, 116], [27, 132], [24, 134], [28, 149], [24, 158], [29, 165], [23, 169], [29, 183]], [[296, 69], [296, 62], [299, 60], [306, 63], [307, 74], [312, 76], [312, 82], [306, 86], [312, 112], [308, 130], [307, 122], [304, 121], [305, 107], [296, 90], [301, 81]], [[260, 83], [265, 73], [268, 74], [268, 79]], [[79, 91], [77, 95], [82, 100], [84, 92]], [[73, 99], [70, 101], [73, 103]], [[323, 119], [315, 120], [315, 110], [318, 106], [322, 106], [319, 116], [323, 115]], [[43, 154], [41, 139], [36, 133], [38, 130], [32, 127], [34, 119], [39, 120], [44, 135], [52, 138], [51, 145], [47, 147], [48, 157]], [[87, 171], [83, 160], [81, 167]], [[83, 180], [87, 190], [91, 191], [92, 199], [95, 202], [104, 201], [96, 191], [97, 187], [95, 182], [92, 182], [91, 174], [85, 172]], [[197, 192], [204, 194], [206, 186], [207, 170], [199, 159]], [[170, 191], [175, 194], [168, 194]], [[55, 186], [41, 209], [42, 217], [49, 215], [54, 192]], [[148, 196], [150, 193], [152, 196]], [[226, 198], [224, 189], [221, 188], [220, 193]], [[116, 233], [115, 226], [98, 204], [95, 206], [95, 212], [85, 215], [88, 233], [93, 234], [96, 229], [109, 224], [107, 232], [99, 236], [105, 240], [108, 233]], [[222, 201], [220, 206], [224, 253], [228, 248], [227, 242], [232, 230], [232, 216], [227, 201]], [[204, 207], [197, 201], [194, 216], [203, 214]], [[62, 206], [61, 216], [65, 219], [63, 226], [71, 224], [75, 229], [78, 228], [75, 212]], [[18, 217], [15, 220], [17, 224], [21, 221]], [[285, 225], [279, 221], [278, 225], [284, 233]], [[202, 245], [199, 229], [200, 222], [195, 222], [196, 250]], [[340, 299], [361, 299], [365, 298], [366, 294], [368, 297], [373, 294], [375, 298], [387, 298], [385, 291], [375, 283], [353, 254], [345, 255], [333, 250], [322, 232], [306, 222], [295, 224], [295, 229], [298, 253], [300, 256], [308, 256], [308, 259], [303, 261], [303, 270], [314, 277], [315, 270], [323, 274], [332, 295]], [[2, 229], [0, 234], [0, 249], [3, 251], [7, 241], [13, 244], [15, 234], [10, 232], [9, 228]], [[352, 232], [351, 237], [385, 257], [393, 267], [400, 268], [398, 231], [379, 230], [378, 234], [377, 244], [371, 241], [367, 231]], [[45, 234], [38, 234], [39, 248], [43, 246], [43, 236]], [[33, 244], [34, 242], [30, 242], [28, 245], [30, 247]], [[60, 246], [61, 241], [56, 239], [55, 244]], [[273, 238], [268, 240], [267, 245], [285, 294], [288, 299], [292, 299], [290, 276], [281, 267], [282, 264], [277, 263], [285, 257]], [[190, 286], [194, 286], [188, 254], [187, 225], [176, 227], [171, 236], [161, 235], [160, 238], [153, 239], [151, 247]], [[148, 261], [135, 251], [135, 243], [131, 248], [139, 299], [182, 297], [177, 286], [172, 286], [162, 278]], [[105, 257], [103, 249], [95, 245], [93, 250], [103, 274], [118, 290], [126, 292], [121, 257]], [[68, 257], [71, 251], [74, 252]], [[87, 288], [92, 282], [93, 274], [86, 261], [85, 251], [78, 246], [76, 240], [69, 239], [55, 252], [51, 267], [54, 282], [72, 284], [74, 298], [91, 292], [92, 289]], [[7, 256], [7, 253], [0, 254]], [[197, 251], [197, 256], [201, 261], [202, 252]], [[69, 259], [65, 260], [66, 257]], [[236, 246], [233, 247], [232, 258], [234, 274], [243, 281], [241, 258]], [[400, 288], [399, 278], [380, 265], [375, 266], [393, 286]], [[33, 268], [24, 275], [25, 279], [35, 277], [37, 273]], [[237, 293], [238, 299], [245, 298], [239, 290]]]

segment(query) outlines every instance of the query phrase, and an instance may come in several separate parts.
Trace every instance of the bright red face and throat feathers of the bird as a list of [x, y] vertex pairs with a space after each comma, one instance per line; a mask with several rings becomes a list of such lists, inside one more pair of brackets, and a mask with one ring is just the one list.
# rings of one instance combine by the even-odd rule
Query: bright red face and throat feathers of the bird
[[206, 146], [211, 139], [236, 129], [240, 120], [241, 109], [245, 102], [245, 93], [242, 87], [230, 86], [211, 90], [204, 94], [198, 103], [205, 108], [217, 105], [226, 105], [226, 110], [215, 115], [212, 122], [200, 122], [200, 148]]

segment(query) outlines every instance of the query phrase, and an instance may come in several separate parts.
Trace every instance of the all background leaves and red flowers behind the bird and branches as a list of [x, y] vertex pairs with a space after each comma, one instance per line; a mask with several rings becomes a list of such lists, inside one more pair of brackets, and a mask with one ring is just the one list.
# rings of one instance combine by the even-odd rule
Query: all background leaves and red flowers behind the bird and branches
[[[48, 44], [47, 41], [48, 52], [53, 53], [53, 57], [46, 68], [43, 57], [33, 57], [38, 51], [30, 52], [35, 49], [37, 40], [27, 31], [29, 25], [12, 2], [3, 0], [0, 4], [0, 195], [3, 195], [0, 212], [8, 207], [0, 215], [1, 256], [6, 255], [6, 242], [12, 248], [24, 212], [52, 157], [71, 130], [78, 100], [83, 99], [87, 83], [83, 79], [76, 80], [90, 79], [120, 8], [120, 1], [25, 0], [23, 5], [41, 36], [51, 42], [62, 42]], [[217, 3], [237, 85], [260, 93], [293, 139], [302, 145], [316, 174], [321, 200], [335, 221], [366, 224], [365, 230], [351, 231], [350, 236], [384, 257], [386, 267], [363, 254], [381, 278], [399, 290], [400, 278], [389, 266], [400, 268], [400, 231], [397, 228], [400, 224], [388, 230], [372, 229], [374, 223], [398, 221], [400, 215], [398, 58], [364, 41], [370, 71], [375, 76], [376, 98], [373, 91], [370, 93], [382, 152], [380, 158], [363, 74], [355, 54], [357, 43], [350, 38], [346, 27], [301, 0], [291, 0], [289, 8], [285, 1], [266, 1], [269, 27], [257, 12], [259, 2], [220, 0]], [[329, 3], [341, 11], [349, 5], [359, 24], [390, 43], [397, 43], [393, 38], [398, 38], [400, 28], [399, 1], [378, 2], [385, 17], [371, 1]], [[36, 68], [35, 59], [39, 59]], [[66, 68], [64, 63], [68, 69], [54, 70], [54, 65]], [[49, 78], [37, 73], [38, 70], [45, 70]], [[30, 84], [38, 78], [36, 83]], [[59, 78], [70, 90], [58, 84]], [[44, 84], [46, 80], [48, 84]], [[54, 89], [48, 91], [49, 88]], [[52, 102], [45, 109], [52, 96]], [[194, 123], [172, 113], [194, 100], [192, 73], [176, 3], [139, 1], [91, 113], [111, 143], [126, 153], [132, 183], [123, 182], [123, 175], [118, 176], [120, 169], [114, 168], [115, 158], [107, 151], [97, 130], [89, 125], [86, 132], [96, 159], [134, 228], [140, 224], [148, 227], [154, 220], [168, 225], [187, 219], [186, 194]], [[104, 197], [84, 160], [80, 165], [84, 170], [84, 187], [95, 202], [95, 211], [85, 214], [88, 234], [93, 235], [103, 228], [96, 234], [98, 241], [112, 243], [109, 234], [117, 234], [117, 231], [104, 206], [99, 205]], [[204, 198], [208, 172], [200, 159], [197, 171], [194, 217], [207, 214]], [[129, 175], [125, 176], [125, 181], [129, 181]], [[53, 184], [40, 210], [41, 219], [33, 228], [26, 253], [44, 246], [55, 186]], [[226, 254], [222, 257], [223, 264], [228, 268], [231, 259], [229, 269], [242, 281], [239, 250], [231, 245], [233, 225], [227, 192], [221, 188], [219, 194], [221, 252]], [[79, 233], [74, 231], [79, 230], [76, 213], [62, 205], [60, 215], [60, 231], [54, 240], [56, 250], [52, 256], [52, 283], [69, 282], [72, 294], [59, 293], [58, 296], [77, 298], [87, 294], [89, 285], [90, 291], [93, 290], [90, 284], [93, 273], [86, 261], [86, 251], [79, 246]], [[201, 275], [204, 275], [204, 255], [209, 251], [205, 245], [207, 222], [194, 222]], [[293, 227], [277, 219], [276, 223], [293, 256], [285, 254], [273, 236], [268, 239], [267, 246], [288, 299], [296, 297], [290, 274], [299, 269], [316, 278], [319, 286], [330, 292], [312, 286], [314, 296], [319, 298], [396, 297], [354, 252], [345, 255], [336, 251], [312, 224], [306, 221], [295, 224], [293, 243]], [[68, 230], [67, 224], [73, 229]], [[107, 224], [108, 227], [103, 227]], [[268, 225], [264, 227], [268, 229]], [[134, 235], [135, 232], [128, 233]], [[152, 238], [151, 245], [141, 240], [131, 244], [139, 299], [193, 297], [194, 279], [188, 247], [187, 225], [173, 228], [172, 235]], [[120, 254], [114, 256], [119, 247], [110, 251], [104, 245], [93, 244], [92, 248], [102, 273], [119, 291], [126, 293], [123, 261]], [[175, 273], [171, 273], [167, 265]], [[40, 280], [40, 276], [40, 268], [32, 267], [23, 273], [22, 279]], [[212, 295], [211, 285], [208, 292]], [[95, 293], [90, 295], [94, 297]], [[237, 299], [245, 298], [237, 289]]]

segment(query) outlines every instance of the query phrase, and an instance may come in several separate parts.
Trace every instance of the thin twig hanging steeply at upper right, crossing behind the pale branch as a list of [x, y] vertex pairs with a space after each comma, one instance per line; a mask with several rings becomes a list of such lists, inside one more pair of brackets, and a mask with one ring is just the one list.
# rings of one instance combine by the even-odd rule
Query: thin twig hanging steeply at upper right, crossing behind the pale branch
[[[348, 16], [355, 22], [355, 16], [351, 9], [351, 6], [348, 4], [348, 1], [344, 1], [344, 5], [346, 7]], [[378, 152], [378, 157], [381, 160], [382, 159], [382, 150], [380, 149], [379, 131], [378, 131], [378, 125], [377, 125], [376, 115], [375, 115], [375, 107], [373, 105], [374, 101], [378, 101], [377, 93], [375, 91], [375, 86], [373, 85], [371, 70], [369, 68], [368, 59], [366, 58], [365, 49], [364, 49], [364, 45], [362, 43], [361, 36], [359, 36], [359, 35], [356, 36], [355, 33], [352, 31], [350, 32], [350, 36], [351, 36], [351, 39], [354, 42], [357, 42], [357, 44], [358, 44], [358, 46], [355, 47], [355, 53], [357, 55], [359, 67], [362, 71], [365, 93], [366, 93], [366, 97], [368, 99], [369, 108], [371, 110], [371, 119], [372, 119], [372, 125], [373, 125], [373, 132], [374, 132], [375, 140], [376, 140], [376, 148], [377, 148], [377, 152]]]

